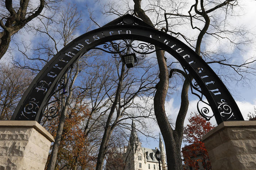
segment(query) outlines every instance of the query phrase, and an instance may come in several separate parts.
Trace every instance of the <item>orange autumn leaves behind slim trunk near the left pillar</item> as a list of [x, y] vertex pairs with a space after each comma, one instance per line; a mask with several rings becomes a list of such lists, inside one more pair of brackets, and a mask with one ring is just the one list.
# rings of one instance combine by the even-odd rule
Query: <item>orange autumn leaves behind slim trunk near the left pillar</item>
[[[75, 169], [76, 166], [85, 169], [86, 167], [90, 167], [91, 164], [94, 164], [92, 162], [95, 161], [95, 158], [89, 156], [90, 153], [88, 153], [88, 151], [90, 149], [88, 149], [88, 147], [90, 146], [89, 142], [86, 140], [82, 127], [83, 122], [86, 121], [89, 113], [90, 110], [88, 107], [81, 104], [68, 110], [55, 169], [59, 169], [61, 167]], [[49, 132], [55, 138], [59, 119], [54, 118], [49, 123]]]

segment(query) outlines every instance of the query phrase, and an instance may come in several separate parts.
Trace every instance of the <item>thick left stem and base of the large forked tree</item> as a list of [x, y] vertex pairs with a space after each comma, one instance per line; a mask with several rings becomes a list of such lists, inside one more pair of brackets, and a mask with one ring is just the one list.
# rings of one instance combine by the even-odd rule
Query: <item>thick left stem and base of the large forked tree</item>
[[183, 170], [181, 160], [181, 142], [177, 143], [177, 139], [180, 141], [179, 138], [182, 139], [182, 136], [180, 136], [180, 134], [176, 134], [176, 132], [172, 130], [164, 109], [165, 98], [169, 85], [168, 69], [163, 52], [158, 51], [156, 55], [160, 70], [160, 81], [154, 97], [155, 116], [166, 147], [167, 165], [169, 165], [168, 170]]

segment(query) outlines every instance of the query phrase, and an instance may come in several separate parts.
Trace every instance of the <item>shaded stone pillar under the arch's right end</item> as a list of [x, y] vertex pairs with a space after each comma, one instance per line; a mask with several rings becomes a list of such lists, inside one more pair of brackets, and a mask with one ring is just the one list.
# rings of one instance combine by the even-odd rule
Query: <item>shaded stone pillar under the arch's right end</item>
[[202, 141], [212, 170], [256, 170], [256, 121], [222, 122]]

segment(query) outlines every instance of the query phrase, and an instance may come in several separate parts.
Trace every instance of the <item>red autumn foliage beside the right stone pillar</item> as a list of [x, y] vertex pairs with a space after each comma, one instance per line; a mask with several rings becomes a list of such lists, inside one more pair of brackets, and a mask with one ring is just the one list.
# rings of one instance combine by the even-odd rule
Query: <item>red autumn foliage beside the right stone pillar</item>
[[211, 169], [209, 155], [201, 140], [215, 126], [197, 113], [190, 114], [189, 123], [184, 127], [183, 141], [190, 144], [182, 148], [184, 163], [198, 170], [201, 162], [203, 168], [209, 170]]

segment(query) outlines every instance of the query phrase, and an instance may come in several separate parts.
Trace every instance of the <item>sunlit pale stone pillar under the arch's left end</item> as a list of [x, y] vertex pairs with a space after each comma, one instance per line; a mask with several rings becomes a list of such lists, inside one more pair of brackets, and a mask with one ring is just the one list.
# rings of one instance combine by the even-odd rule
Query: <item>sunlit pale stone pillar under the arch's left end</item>
[[51, 142], [36, 121], [0, 121], [0, 170], [43, 170]]

